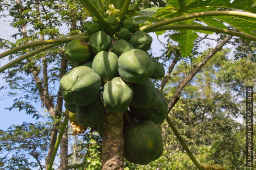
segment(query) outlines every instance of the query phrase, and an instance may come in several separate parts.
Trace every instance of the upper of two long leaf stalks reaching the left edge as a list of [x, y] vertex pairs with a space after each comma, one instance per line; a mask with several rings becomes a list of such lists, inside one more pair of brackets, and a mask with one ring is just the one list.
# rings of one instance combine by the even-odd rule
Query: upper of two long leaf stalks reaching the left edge
[[[88, 34], [83, 32], [84, 35], [86, 36], [81, 36], [79, 38], [81, 39], [89, 39], [89, 36], [87, 36]], [[65, 42], [69, 42], [72, 41], [74, 39], [77, 39], [77, 37], [69, 37], [69, 38], [59, 38], [59, 39], [52, 39], [52, 40], [43, 40], [43, 41], [36, 41], [36, 42], [31, 42], [31, 43], [27, 43], [25, 45], [21, 45], [19, 47], [15, 47], [13, 49], [9, 49], [8, 51], [5, 51], [3, 53], [0, 54], [0, 59], [4, 58], [5, 56], [8, 56], [10, 54], [13, 54], [15, 52], [18, 52], [20, 50], [23, 49], [28, 49], [31, 47], [36, 47], [36, 46], [41, 46], [41, 45], [48, 45], [48, 44], [55, 44], [55, 43], [65, 43]]]

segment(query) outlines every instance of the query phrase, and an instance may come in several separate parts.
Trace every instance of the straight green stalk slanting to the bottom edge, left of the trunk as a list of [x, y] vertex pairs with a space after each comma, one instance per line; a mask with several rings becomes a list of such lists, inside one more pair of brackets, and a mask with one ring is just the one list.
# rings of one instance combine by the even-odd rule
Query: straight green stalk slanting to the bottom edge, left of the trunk
[[52, 155], [51, 155], [49, 164], [48, 164], [48, 166], [47, 166], [47, 170], [51, 170], [51, 169], [52, 169], [53, 162], [54, 162], [54, 158], [55, 158], [55, 156], [56, 156], [57, 150], [58, 150], [59, 145], [60, 145], [61, 138], [62, 138], [62, 136], [63, 136], [64, 130], [65, 130], [67, 124], [68, 124], [68, 119], [65, 117], [65, 118], [64, 118], [64, 121], [63, 121], [63, 123], [62, 123], [62, 125], [61, 125], [60, 133], [59, 133], [58, 138], [57, 138], [57, 140], [56, 140], [56, 143], [55, 143], [55, 145], [54, 145], [53, 153], [52, 153]]

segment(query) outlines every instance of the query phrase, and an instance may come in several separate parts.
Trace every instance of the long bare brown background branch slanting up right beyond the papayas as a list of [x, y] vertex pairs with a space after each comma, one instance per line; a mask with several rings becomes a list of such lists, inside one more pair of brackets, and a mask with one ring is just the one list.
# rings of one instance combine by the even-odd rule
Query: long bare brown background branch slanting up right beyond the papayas
[[175, 94], [173, 94], [172, 99], [168, 103], [168, 113], [171, 111], [172, 107], [178, 102], [182, 89], [192, 80], [192, 78], [207, 63], [207, 61], [212, 58], [212, 56], [216, 54], [231, 38], [232, 35], [228, 35], [226, 38], [224, 38], [222, 42], [220, 42], [214, 49], [212, 49], [212, 51], [209, 52], [196, 67], [193, 68], [191, 73], [182, 80], [182, 82], [176, 88]]

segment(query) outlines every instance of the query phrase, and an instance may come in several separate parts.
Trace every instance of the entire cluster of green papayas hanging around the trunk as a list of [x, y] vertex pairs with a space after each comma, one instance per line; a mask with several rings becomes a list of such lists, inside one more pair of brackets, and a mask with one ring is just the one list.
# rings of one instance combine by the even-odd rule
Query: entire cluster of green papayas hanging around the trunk
[[[109, 25], [116, 22], [113, 15], [107, 19]], [[86, 22], [83, 29], [90, 35], [89, 41], [75, 39], [67, 44], [68, 58], [79, 64], [61, 78], [60, 86], [65, 108], [75, 113], [73, 121], [97, 127], [101, 136], [105, 107], [109, 112], [128, 113], [124, 156], [146, 165], [163, 152], [157, 124], [166, 117], [167, 101], [151, 80], [164, 76], [162, 64], [147, 52], [152, 37], [136, 31], [137, 27], [133, 18], [127, 18], [113, 38], [97, 22]]]

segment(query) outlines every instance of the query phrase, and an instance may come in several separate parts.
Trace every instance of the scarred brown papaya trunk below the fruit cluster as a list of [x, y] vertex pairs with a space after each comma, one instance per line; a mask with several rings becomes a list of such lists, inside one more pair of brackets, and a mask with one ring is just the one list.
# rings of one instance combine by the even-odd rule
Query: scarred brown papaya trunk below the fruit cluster
[[102, 141], [102, 170], [123, 170], [123, 112], [104, 115]]

